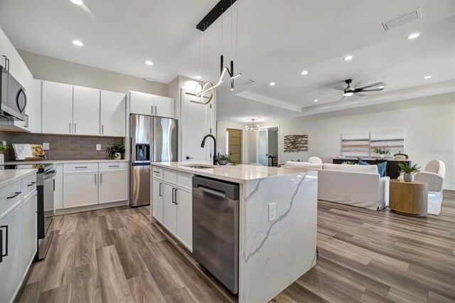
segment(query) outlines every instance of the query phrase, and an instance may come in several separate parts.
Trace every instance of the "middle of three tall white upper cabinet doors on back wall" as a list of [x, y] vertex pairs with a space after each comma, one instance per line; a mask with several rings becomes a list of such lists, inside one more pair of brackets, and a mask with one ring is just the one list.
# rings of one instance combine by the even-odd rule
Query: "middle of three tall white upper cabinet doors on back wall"
[[100, 135], [100, 90], [74, 86], [73, 134]]

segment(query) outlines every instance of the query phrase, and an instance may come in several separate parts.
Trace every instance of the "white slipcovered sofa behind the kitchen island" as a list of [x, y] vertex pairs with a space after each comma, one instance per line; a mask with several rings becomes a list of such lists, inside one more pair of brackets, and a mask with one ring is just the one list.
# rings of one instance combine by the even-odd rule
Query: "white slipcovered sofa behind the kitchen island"
[[292, 169], [318, 170], [318, 199], [380, 210], [389, 205], [389, 177], [380, 178], [378, 166], [311, 164], [287, 161]]

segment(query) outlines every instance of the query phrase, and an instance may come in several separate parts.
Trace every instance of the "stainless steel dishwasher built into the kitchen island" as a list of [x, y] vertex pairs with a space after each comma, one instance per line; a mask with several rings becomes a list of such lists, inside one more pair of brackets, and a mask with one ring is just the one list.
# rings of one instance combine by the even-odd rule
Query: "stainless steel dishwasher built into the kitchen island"
[[238, 292], [239, 185], [193, 176], [193, 256]]

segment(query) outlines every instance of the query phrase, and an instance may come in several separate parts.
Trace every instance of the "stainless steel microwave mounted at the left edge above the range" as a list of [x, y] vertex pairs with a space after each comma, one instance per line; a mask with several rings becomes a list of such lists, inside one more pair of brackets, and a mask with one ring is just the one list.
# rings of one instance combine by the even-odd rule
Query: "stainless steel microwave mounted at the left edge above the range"
[[26, 89], [3, 66], [0, 73], [0, 119], [26, 119]]

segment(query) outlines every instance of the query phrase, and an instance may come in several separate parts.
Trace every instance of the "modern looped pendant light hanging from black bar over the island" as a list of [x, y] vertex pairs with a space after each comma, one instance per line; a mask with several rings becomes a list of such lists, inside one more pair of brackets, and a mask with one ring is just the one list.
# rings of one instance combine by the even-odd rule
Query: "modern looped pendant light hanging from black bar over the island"
[[[229, 9], [232, 4], [234, 4], [237, 0], [221, 0], [218, 4], [198, 23], [196, 28], [204, 33], [204, 50], [203, 56], [208, 56], [208, 26], [210, 26], [216, 19], [221, 16], [221, 55], [220, 55], [220, 79], [218, 83], [213, 85], [213, 83], [206, 82], [204, 84], [198, 83], [195, 87], [195, 95], [200, 97], [200, 101], [204, 104], [208, 104], [214, 95], [214, 88], [220, 86], [223, 83], [226, 73], [228, 73], [230, 78], [230, 89], [234, 90], [234, 80], [235, 78], [240, 77], [241, 73], [234, 73], [234, 61], [230, 60], [230, 68], [224, 66], [224, 56], [223, 56], [223, 13]], [[236, 36], [235, 36], [235, 58], [237, 58], [237, 40], [238, 40], [238, 3], [237, 3], [237, 26], [236, 26]], [[205, 35], [207, 38], [205, 38]], [[200, 38], [200, 36], [199, 36]], [[231, 9], [231, 48], [232, 48], [232, 9]], [[199, 48], [200, 48], [200, 41], [199, 41]], [[200, 52], [199, 52], [199, 65], [200, 65]], [[208, 68], [208, 65], [205, 64], [205, 68]], [[200, 68], [199, 68], [200, 69]], [[210, 95], [204, 95], [205, 93], [210, 92]]]

